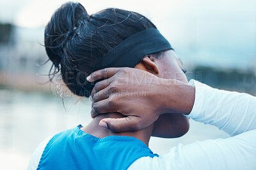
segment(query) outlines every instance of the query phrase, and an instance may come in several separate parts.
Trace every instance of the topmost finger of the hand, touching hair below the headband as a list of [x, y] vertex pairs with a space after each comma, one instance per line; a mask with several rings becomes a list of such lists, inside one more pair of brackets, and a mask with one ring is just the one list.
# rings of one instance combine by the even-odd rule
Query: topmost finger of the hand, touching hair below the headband
[[120, 69], [120, 67], [111, 67], [111, 68], [104, 68], [104, 69], [100, 69], [98, 71], [93, 72], [92, 74], [90, 74], [86, 80], [93, 82], [102, 78], [109, 78], [111, 76], [113, 76], [115, 73], [117, 73]]

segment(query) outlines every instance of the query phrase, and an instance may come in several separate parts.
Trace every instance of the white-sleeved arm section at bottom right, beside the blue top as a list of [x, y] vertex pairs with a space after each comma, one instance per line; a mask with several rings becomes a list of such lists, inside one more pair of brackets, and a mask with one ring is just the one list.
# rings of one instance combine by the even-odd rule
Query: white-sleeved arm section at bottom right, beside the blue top
[[179, 144], [159, 157], [142, 157], [129, 169], [255, 169], [256, 130], [232, 138]]

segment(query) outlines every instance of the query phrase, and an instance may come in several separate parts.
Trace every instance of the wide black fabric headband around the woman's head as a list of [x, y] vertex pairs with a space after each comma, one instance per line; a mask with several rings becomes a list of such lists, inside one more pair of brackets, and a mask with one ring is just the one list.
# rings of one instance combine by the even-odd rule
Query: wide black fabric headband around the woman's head
[[147, 54], [173, 50], [157, 29], [145, 29], [125, 39], [110, 50], [93, 67], [92, 71], [106, 67], [135, 67]]

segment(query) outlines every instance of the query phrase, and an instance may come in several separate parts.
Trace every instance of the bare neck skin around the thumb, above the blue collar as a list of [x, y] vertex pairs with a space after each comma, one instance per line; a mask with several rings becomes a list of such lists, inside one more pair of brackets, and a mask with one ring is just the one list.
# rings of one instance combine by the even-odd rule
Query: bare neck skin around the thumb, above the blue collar
[[107, 128], [99, 126], [100, 120], [103, 118], [122, 118], [124, 117], [120, 113], [106, 113], [101, 114], [90, 122], [90, 124], [86, 125], [85, 127], [81, 128], [82, 131], [86, 132], [87, 134], [92, 134], [97, 138], [105, 138], [106, 136], [131, 136], [137, 139], [140, 139], [145, 145], [148, 146], [148, 142], [153, 130], [153, 124], [146, 127], [145, 129], [141, 129], [140, 131], [127, 131], [127, 132], [112, 132]]

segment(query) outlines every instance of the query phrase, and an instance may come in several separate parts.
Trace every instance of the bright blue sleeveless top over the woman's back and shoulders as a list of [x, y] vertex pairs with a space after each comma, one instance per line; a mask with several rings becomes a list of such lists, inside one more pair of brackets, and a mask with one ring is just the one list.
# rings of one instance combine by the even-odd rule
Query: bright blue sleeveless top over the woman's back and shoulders
[[140, 157], [155, 157], [145, 143], [128, 136], [97, 138], [81, 125], [56, 134], [45, 146], [37, 169], [127, 169]]

